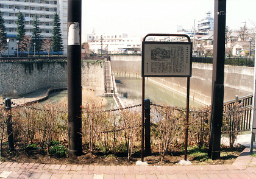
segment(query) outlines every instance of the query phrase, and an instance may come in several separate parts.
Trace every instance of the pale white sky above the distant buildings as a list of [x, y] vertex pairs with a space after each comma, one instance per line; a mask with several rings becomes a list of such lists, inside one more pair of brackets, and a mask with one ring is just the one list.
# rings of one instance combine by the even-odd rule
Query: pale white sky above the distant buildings
[[[215, 0], [82, 0], [82, 41], [98, 34], [176, 33], [177, 26], [191, 30], [206, 12], [214, 14]], [[255, 0], [227, 0], [226, 26], [238, 30], [256, 25]]]

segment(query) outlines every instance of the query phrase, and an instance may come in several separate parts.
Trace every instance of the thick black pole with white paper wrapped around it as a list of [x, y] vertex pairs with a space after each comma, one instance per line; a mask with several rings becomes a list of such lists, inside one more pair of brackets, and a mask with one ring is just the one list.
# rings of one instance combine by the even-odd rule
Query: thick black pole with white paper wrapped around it
[[82, 155], [82, 0], [68, 0], [68, 155]]

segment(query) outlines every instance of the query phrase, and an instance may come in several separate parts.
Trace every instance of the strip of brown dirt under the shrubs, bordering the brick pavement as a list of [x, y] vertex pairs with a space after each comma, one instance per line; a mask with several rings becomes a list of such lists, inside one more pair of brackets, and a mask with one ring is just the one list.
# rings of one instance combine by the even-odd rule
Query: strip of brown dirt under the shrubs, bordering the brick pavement
[[[126, 153], [108, 153], [102, 152], [84, 152], [82, 156], [73, 158], [58, 158], [54, 155], [47, 155], [45, 150], [36, 149], [25, 152], [23, 149], [16, 149], [15, 152], [9, 153], [8, 146], [4, 146], [4, 156], [1, 161], [12, 161], [19, 163], [44, 163], [44, 164], [93, 164], [93, 165], [135, 165], [136, 161], [141, 160], [141, 154], [134, 153], [130, 160], [127, 160]], [[235, 158], [243, 151], [243, 147], [233, 151], [226, 150], [220, 160], [210, 160], [207, 154], [201, 156], [188, 155], [187, 159], [194, 165], [202, 164], [232, 164]], [[171, 152], [161, 161], [160, 155], [152, 151], [151, 156], [145, 156], [144, 161], [149, 165], [177, 165], [180, 160], [184, 159], [183, 152]]]

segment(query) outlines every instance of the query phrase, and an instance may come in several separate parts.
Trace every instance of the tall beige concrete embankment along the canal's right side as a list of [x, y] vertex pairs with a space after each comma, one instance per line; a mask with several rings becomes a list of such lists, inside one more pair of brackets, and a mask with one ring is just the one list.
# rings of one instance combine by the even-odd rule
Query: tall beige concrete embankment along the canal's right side
[[[131, 77], [141, 76], [141, 56], [112, 55], [112, 69], [115, 74]], [[150, 78], [159, 85], [166, 86], [180, 94], [187, 94], [187, 78]], [[225, 66], [224, 101], [236, 95], [242, 97], [254, 91], [254, 68], [244, 66]], [[210, 105], [212, 96], [212, 65], [193, 63], [190, 81], [190, 97]]]

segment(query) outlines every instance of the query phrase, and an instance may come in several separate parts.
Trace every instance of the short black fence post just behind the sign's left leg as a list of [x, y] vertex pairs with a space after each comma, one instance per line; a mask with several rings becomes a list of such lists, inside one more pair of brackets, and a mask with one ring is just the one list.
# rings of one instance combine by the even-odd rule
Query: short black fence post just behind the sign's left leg
[[144, 99], [145, 110], [145, 155], [151, 155], [151, 138], [150, 138], [150, 100]]

